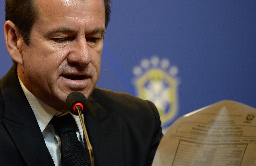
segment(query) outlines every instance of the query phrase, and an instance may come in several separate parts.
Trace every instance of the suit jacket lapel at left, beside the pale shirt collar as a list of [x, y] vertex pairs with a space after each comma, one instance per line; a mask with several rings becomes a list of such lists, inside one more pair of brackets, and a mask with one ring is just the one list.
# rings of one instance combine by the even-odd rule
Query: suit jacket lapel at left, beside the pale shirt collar
[[19, 84], [16, 66], [1, 79], [3, 123], [27, 165], [54, 165], [35, 115]]

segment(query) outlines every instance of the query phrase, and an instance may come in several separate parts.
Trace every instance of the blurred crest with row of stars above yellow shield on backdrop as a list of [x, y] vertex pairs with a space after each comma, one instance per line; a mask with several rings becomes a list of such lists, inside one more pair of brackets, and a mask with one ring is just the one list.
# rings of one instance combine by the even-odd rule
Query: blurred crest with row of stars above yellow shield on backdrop
[[178, 113], [178, 67], [170, 65], [168, 59], [153, 56], [142, 59], [133, 74], [137, 96], [156, 105], [162, 127], [167, 128]]

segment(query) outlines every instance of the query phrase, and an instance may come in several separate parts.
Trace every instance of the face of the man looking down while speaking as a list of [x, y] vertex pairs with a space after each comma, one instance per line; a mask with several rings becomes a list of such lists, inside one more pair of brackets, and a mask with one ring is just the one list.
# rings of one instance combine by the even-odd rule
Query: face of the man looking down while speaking
[[103, 0], [36, 0], [38, 18], [29, 45], [21, 45], [18, 75], [46, 104], [65, 111], [67, 95], [87, 98], [100, 74], [105, 30]]

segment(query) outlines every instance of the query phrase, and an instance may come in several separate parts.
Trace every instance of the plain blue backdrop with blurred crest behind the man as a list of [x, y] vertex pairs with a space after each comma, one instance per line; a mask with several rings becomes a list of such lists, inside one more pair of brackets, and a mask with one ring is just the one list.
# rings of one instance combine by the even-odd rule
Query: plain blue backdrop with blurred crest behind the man
[[[172, 111], [165, 127], [223, 99], [256, 107], [255, 0], [112, 0], [111, 8], [98, 87], [151, 96], [161, 118]], [[12, 65], [3, 1], [0, 15], [2, 77]]]

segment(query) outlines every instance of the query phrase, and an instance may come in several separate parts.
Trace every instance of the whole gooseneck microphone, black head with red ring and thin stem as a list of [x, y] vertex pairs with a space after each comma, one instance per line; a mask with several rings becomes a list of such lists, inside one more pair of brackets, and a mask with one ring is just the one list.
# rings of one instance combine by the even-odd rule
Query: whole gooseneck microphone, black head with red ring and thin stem
[[89, 136], [87, 134], [86, 127], [85, 127], [83, 117], [82, 117], [84, 110], [86, 110], [86, 108], [87, 108], [87, 99], [83, 93], [75, 91], [75, 92], [71, 92], [67, 96], [66, 103], [67, 103], [69, 111], [72, 114], [79, 116], [83, 131], [84, 131], [87, 149], [88, 149], [89, 155], [90, 155], [91, 166], [94, 166], [95, 163], [94, 163], [93, 149], [92, 149], [92, 145], [90, 143]]

